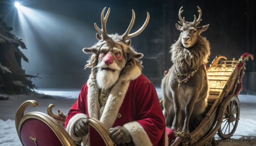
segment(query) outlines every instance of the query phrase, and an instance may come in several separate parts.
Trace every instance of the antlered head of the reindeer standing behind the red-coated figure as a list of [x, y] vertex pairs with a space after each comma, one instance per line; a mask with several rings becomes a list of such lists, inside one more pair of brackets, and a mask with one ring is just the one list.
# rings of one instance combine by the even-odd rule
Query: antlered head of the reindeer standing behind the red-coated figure
[[198, 6], [198, 13], [199, 13], [198, 19], [196, 19], [196, 16], [194, 15], [193, 22], [185, 21], [185, 17], [183, 17], [182, 19], [181, 17], [181, 13], [183, 12], [183, 10], [181, 11], [182, 8], [183, 7], [181, 7], [179, 10], [179, 18], [180, 18], [179, 23], [181, 26], [176, 23], [176, 28], [181, 31], [179, 41], [182, 43], [182, 45], [185, 48], [190, 48], [195, 45], [195, 43], [198, 40], [198, 36], [200, 36], [201, 32], [206, 31], [208, 29], [209, 24], [206, 26], [198, 27], [198, 24], [202, 20], [201, 19], [202, 11], [199, 8], [199, 6]]

